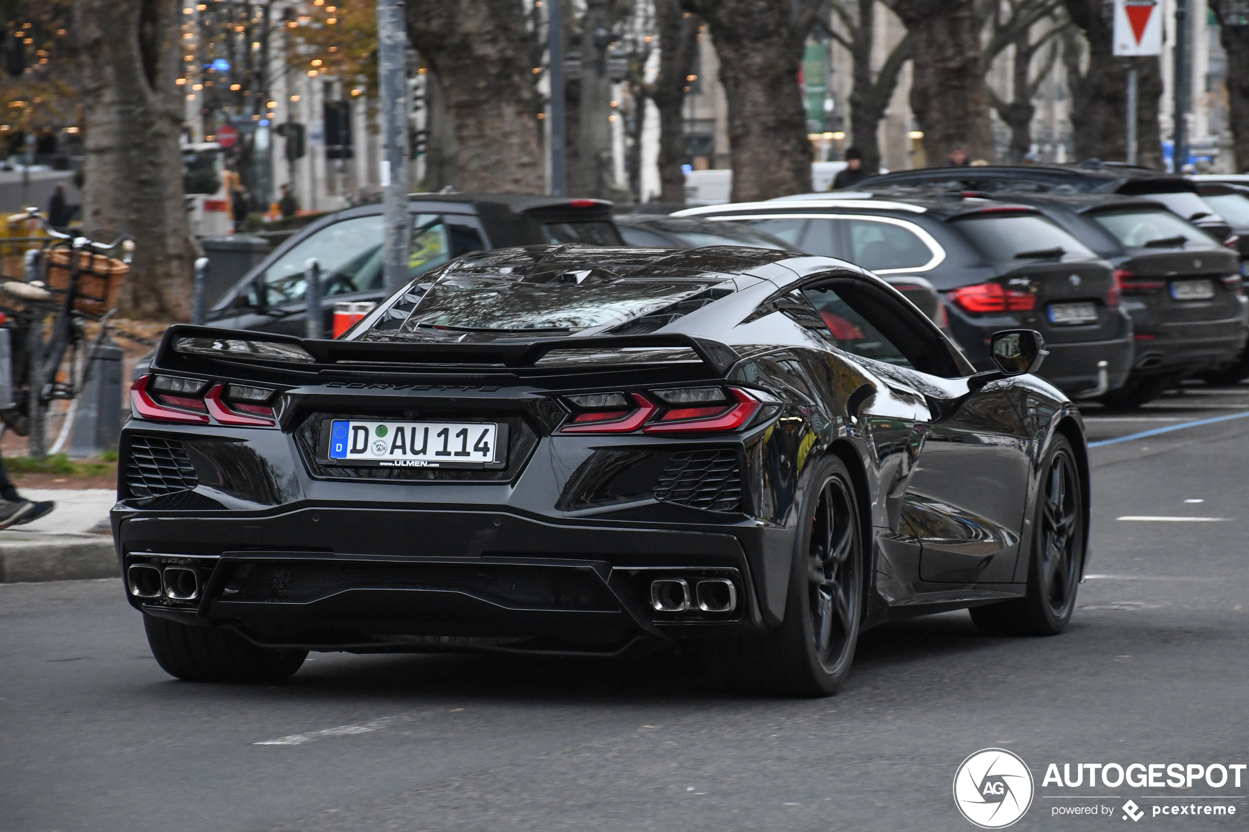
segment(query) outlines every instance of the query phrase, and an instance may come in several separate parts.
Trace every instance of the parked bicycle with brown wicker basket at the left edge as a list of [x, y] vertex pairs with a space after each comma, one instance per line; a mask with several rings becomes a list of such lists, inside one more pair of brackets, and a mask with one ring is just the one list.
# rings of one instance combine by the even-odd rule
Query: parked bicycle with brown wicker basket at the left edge
[[[9, 392], [0, 384], [0, 419], [29, 437], [30, 455], [47, 453], [46, 424], [52, 402], [74, 400], [81, 394], [91, 357], [105, 342], [105, 322], [116, 311], [117, 294], [134, 256], [134, 237], [121, 235], [110, 243], [67, 235], [47, 226], [37, 208], [9, 216], [7, 227], [22, 237], [0, 241], [5, 266], [21, 252], [21, 276], [5, 273], [0, 282], [0, 323], [10, 333]], [[6, 269], [6, 271], [11, 271]], [[89, 339], [86, 326], [99, 323]], [[90, 341], [90, 343], [89, 343]], [[2, 379], [0, 379], [2, 380]], [[71, 428], [66, 418], [54, 447], [60, 450]]]

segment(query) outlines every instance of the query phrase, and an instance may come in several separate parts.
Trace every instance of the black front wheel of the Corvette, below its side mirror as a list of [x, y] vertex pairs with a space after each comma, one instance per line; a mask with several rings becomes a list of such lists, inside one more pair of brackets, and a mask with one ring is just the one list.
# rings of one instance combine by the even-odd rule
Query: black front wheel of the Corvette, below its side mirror
[[972, 621], [988, 635], [1058, 635], [1070, 624], [1084, 559], [1084, 494], [1072, 443], [1055, 437], [1037, 495], [1028, 594], [973, 606]]

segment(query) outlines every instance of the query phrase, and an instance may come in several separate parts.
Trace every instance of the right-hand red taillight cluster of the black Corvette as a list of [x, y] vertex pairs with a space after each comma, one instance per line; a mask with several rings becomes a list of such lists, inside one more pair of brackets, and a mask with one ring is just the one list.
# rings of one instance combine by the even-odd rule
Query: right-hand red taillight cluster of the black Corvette
[[[575, 413], [560, 433], [718, 433], [751, 422], [768, 394], [729, 387], [667, 388], [642, 393], [568, 395]], [[624, 409], [628, 407], [628, 409]]]

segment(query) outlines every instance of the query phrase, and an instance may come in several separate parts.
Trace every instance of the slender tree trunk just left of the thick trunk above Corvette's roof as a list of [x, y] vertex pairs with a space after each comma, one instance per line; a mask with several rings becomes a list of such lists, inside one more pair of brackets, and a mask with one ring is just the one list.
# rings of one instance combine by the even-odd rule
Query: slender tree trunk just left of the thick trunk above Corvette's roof
[[686, 90], [698, 60], [698, 27], [702, 20], [687, 15], [681, 0], [654, 0], [659, 32], [659, 74], [651, 86], [651, 100], [659, 111], [659, 202], [686, 201], [686, 125], [681, 112]]

